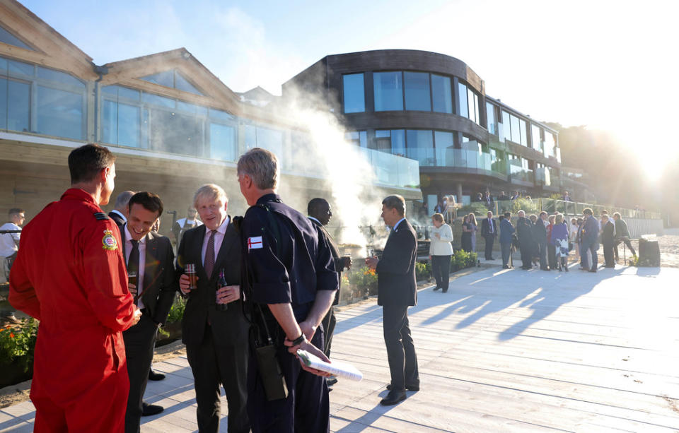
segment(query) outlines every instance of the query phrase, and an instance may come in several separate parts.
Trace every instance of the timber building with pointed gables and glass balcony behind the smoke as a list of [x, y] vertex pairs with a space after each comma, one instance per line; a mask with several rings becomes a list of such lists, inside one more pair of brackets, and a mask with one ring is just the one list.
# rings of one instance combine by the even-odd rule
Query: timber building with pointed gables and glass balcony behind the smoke
[[[68, 154], [88, 142], [117, 155], [117, 191], [154, 191], [177, 218], [207, 182], [224, 186], [229, 213], [242, 215], [236, 161], [267, 148], [282, 164], [282, 194], [306, 210], [333, 185], [313, 153], [300, 156], [313, 146], [306, 124], [267, 95], [233, 92], [183, 48], [95, 65], [17, 1], [0, 0], [0, 215], [21, 207], [30, 218], [58, 200], [70, 183]], [[371, 179], [371, 189], [422, 199], [417, 161], [363, 155], [390, 174]], [[172, 222], [164, 215], [161, 230]]]

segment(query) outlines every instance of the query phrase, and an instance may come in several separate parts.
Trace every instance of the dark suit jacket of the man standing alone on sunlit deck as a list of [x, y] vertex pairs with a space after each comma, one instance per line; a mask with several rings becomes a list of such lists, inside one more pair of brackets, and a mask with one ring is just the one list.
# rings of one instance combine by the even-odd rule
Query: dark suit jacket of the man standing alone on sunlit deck
[[417, 305], [417, 234], [407, 220], [392, 230], [377, 263], [378, 305]]

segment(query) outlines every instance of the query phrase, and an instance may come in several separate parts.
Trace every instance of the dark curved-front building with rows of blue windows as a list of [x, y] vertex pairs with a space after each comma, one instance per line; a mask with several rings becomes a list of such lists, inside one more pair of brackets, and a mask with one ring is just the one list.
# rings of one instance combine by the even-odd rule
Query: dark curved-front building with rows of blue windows
[[283, 85], [327, 104], [356, 146], [419, 161], [429, 214], [443, 196], [561, 191], [558, 133], [485, 93], [463, 61], [407, 49], [324, 57]]

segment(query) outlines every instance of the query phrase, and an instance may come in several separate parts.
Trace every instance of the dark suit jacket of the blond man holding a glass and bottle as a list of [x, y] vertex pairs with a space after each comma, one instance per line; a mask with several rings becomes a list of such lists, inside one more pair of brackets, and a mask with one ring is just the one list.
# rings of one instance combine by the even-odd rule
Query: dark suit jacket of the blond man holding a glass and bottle
[[[184, 273], [186, 263], [196, 266], [197, 288], [187, 295], [184, 318], [182, 319], [182, 342], [197, 345], [203, 340], [206, 324], [212, 326], [216, 345], [245, 345], [248, 341], [248, 322], [243, 315], [241, 299], [230, 302], [226, 311], [216, 309], [217, 280], [219, 271], [224, 269], [228, 285], [240, 285], [240, 233], [233, 225], [233, 219], [226, 226], [224, 240], [214, 259], [212, 275], [207, 275], [202, 262], [202, 247], [205, 239], [205, 225], [187, 230], [182, 236], [177, 253], [177, 279]], [[243, 346], [245, 347], [245, 346]]]

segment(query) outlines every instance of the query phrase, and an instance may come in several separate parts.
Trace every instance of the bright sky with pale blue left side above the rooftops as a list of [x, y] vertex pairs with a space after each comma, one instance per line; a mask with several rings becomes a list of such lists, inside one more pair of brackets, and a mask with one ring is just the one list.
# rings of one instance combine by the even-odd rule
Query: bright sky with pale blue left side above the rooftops
[[524, 114], [613, 131], [651, 175], [679, 153], [679, 1], [23, 4], [96, 64], [186, 47], [236, 91], [261, 85], [280, 94], [284, 81], [327, 54], [387, 48], [448, 54], [481, 76], [488, 95]]

